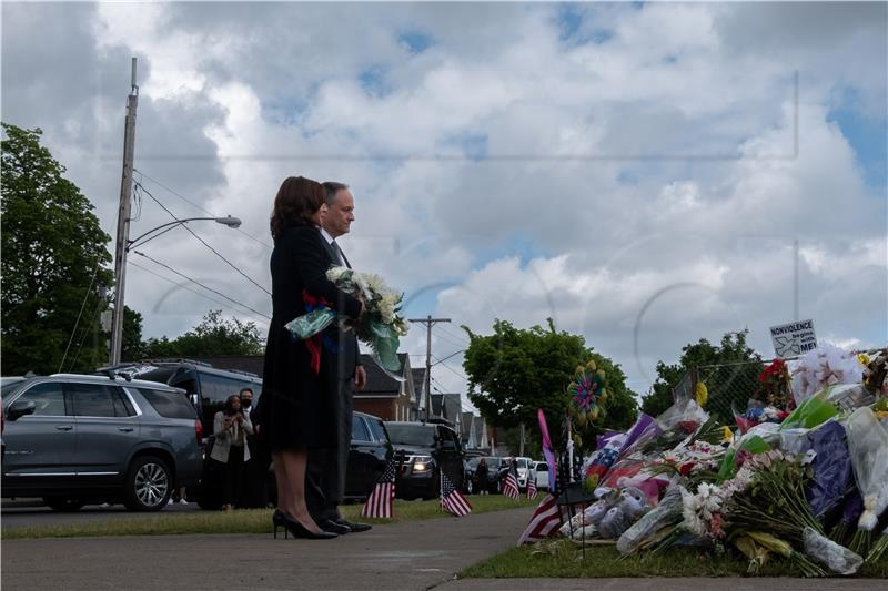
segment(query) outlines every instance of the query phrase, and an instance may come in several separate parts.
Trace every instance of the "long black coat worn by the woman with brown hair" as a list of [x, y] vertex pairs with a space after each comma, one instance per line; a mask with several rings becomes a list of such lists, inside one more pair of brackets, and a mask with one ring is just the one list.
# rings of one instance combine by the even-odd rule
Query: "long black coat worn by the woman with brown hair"
[[271, 255], [273, 310], [260, 405], [260, 435], [268, 438], [272, 450], [329, 447], [335, 441], [335, 408], [329, 394], [332, 376], [330, 364], [323, 363], [325, 347], [333, 345], [324, 334], [302, 340], [284, 328], [306, 313], [306, 302], [312, 299], [357, 317], [361, 303], [326, 278], [330, 264], [324, 238], [314, 226], [289, 227], [275, 241]]

